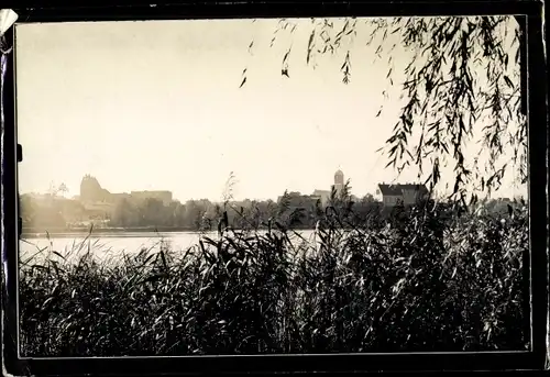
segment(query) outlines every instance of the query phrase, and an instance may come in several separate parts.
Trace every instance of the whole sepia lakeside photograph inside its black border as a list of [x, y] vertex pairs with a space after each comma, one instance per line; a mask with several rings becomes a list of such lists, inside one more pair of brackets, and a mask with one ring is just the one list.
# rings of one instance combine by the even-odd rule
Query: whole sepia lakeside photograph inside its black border
[[520, 32], [18, 24], [21, 355], [529, 350]]

